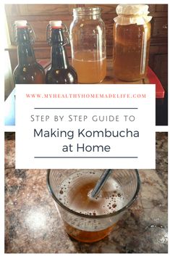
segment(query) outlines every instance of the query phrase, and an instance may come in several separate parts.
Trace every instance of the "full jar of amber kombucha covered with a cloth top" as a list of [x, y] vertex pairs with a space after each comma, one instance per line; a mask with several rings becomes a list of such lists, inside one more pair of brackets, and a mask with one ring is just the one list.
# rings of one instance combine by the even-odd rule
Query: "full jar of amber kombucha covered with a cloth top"
[[119, 4], [114, 18], [114, 77], [127, 82], [145, 78], [150, 47], [148, 5]]

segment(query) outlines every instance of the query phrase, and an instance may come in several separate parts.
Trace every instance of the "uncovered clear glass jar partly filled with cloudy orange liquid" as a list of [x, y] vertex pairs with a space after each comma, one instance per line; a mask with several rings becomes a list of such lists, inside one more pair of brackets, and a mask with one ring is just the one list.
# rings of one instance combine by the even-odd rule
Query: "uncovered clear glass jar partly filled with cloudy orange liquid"
[[70, 25], [72, 65], [78, 83], [100, 83], [106, 76], [106, 36], [99, 7], [73, 9]]

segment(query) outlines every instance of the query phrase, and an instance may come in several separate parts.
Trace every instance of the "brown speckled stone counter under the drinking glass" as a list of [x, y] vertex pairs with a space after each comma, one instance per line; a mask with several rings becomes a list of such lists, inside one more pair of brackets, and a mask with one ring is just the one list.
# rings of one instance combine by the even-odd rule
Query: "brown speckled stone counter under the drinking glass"
[[14, 133], [5, 143], [6, 253], [168, 252], [167, 133], [156, 133], [156, 170], [140, 170], [141, 190], [105, 239], [85, 244], [64, 232], [46, 187], [46, 170], [15, 170]]

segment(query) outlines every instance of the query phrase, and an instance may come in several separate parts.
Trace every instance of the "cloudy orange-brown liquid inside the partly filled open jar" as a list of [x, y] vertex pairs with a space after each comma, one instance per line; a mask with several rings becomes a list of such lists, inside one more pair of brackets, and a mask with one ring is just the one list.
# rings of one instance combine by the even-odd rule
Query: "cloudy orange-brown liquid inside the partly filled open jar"
[[106, 77], [106, 58], [98, 58], [93, 52], [75, 52], [72, 65], [77, 71], [78, 83], [101, 83]]

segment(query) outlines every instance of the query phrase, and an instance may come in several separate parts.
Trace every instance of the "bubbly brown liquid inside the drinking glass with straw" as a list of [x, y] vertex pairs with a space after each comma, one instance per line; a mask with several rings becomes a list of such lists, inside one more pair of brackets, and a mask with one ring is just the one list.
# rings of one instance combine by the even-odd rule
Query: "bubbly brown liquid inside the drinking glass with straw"
[[[90, 197], [90, 191], [93, 190], [99, 177], [100, 175], [98, 176], [90, 172], [90, 170], [70, 176], [60, 186], [59, 200], [69, 209], [84, 215], [107, 215], [122, 208], [124, 195], [120, 191], [118, 183], [112, 179], [111, 181], [106, 181], [105, 186], [103, 186], [97, 197], [94, 199]], [[103, 229], [101, 228], [102, 230], [99, 231], [95, 231], [95, 228], [98, 228], [98, 226], [95, 226], [90, 218], [87, 218], [85, 225], [82, 227], [79, 220], [75, 228], [75, 224], [72, 226], [72, 223], [64, 221], [67, 234], [78, 241], [84, 242], [94, 242], [103, 239], [112, 231], [116, 223], [112, 223], [111, 226], [106, 228], [102, 227]], [[85, 230], [88, 225], [93, 227], [90, 231]]]

